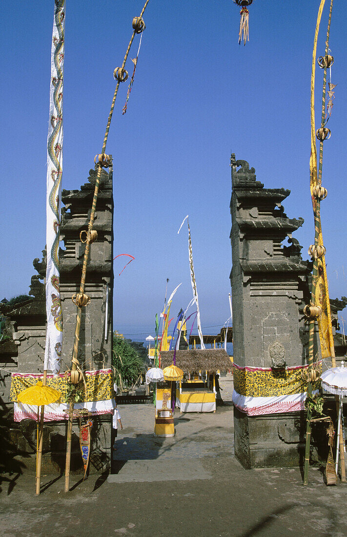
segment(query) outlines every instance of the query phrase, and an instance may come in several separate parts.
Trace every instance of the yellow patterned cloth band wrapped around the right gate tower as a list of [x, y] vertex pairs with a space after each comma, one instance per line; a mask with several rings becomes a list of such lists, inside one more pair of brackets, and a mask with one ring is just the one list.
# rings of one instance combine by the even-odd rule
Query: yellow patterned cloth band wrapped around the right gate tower
[[[280, 395], [300, 394], [307, 391], [307, 381], [302, 379], [303, 367], [286, 369], [240, 367], [234, 364], [234, 390], [246, 397], [277, 397]], [[320, 374], [321, 362], [315, 364]], [[320, 380], [312, 383], [312, 389], [320, 387]]]

